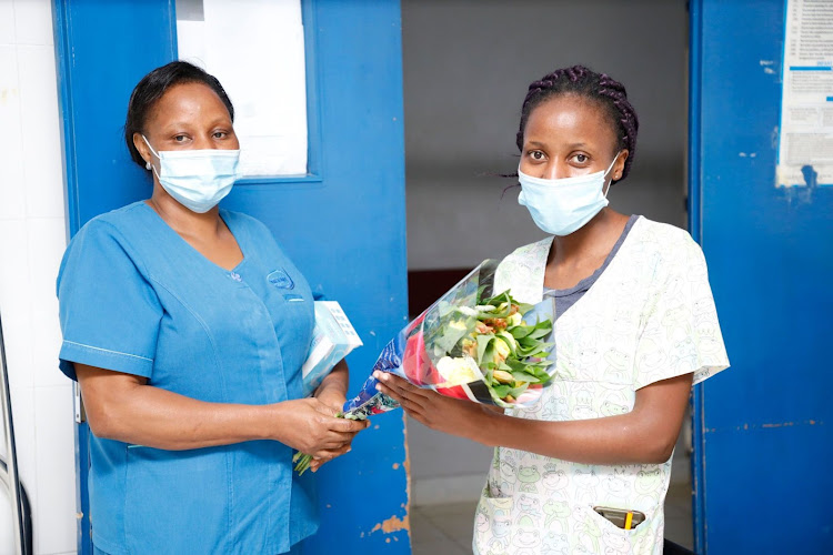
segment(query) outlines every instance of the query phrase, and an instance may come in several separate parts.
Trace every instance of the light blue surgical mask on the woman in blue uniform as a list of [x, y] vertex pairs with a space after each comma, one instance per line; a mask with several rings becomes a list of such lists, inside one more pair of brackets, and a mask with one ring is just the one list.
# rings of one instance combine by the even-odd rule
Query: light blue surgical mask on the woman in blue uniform
[[159, 183], [177, 202], [198, 214], [217, 206], [240, 179], [239, 150], [163, 150], [154, 151], [142, 135], [150, 151], [159, 159], [153, 169]]

